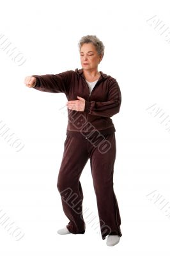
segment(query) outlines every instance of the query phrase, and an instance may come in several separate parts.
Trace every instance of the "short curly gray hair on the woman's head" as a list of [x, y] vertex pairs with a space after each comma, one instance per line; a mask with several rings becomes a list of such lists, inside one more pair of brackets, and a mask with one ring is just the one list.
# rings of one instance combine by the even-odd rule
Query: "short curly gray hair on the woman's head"
[[96, 35], [87, 35], [87, 36], [82, 36], [81, 40], [79, 40], [79, 51], [81, 51], [81, 47], [83, 44], [88, 44], [88, 43], [92, 43], [93, 45], [95, 45], [95, 48], [98, 52], [98, 55], [102, 54], [102, 56], [104, 56], [104, 44], [102, 43], [102, 41], [100, 41], [98, 39], [98, 37]]

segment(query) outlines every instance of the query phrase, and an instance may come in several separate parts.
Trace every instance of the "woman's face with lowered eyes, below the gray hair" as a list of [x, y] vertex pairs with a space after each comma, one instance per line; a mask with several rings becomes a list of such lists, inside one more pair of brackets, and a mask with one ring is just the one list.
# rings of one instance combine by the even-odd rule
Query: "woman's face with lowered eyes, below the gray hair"
[[93, 70], [98, 67], [98, 63], [102, 58], [98, 55], [95, 45], [92, 43], [83, 44], [81, 46], [81, 65], [85, 70]]

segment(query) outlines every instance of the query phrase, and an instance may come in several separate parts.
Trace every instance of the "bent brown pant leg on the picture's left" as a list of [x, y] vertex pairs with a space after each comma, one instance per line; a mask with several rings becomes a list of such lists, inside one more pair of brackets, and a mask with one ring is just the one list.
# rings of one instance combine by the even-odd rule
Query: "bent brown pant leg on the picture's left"
[[86, 229], [82, 216], [83, 193], [79, 179], [88, 159], [87, 140], [67, 136], [57, 187], [61, 195], [63, 211], [70, 220], [66, 227], [73, 234], [84, 234]]

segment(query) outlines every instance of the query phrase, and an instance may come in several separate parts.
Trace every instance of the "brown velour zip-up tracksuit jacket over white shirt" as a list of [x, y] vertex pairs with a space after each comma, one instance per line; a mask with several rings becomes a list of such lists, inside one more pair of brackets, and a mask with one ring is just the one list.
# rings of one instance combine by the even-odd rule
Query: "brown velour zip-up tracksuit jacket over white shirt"
[[115, 78], [100, 71], [99, 77], [91, 94], [82, 72], [67, 70], [59, 74], [46, 74], [36, 77], [36, 90], [42, 92], [63, 92], [67, 100], [78, 100], [77, 96], [85, 99], [84, 111], [68, 109], [68, 125], [66, 134], [69, 136], [91, 136], [112, 134], [116, 131], [111, 116], [120, 111], [121, 91]]

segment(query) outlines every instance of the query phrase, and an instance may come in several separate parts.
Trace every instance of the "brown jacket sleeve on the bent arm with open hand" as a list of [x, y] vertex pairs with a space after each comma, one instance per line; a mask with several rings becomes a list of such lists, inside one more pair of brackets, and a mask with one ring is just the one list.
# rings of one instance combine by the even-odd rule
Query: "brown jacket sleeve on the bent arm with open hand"
[[121, 91], [116, 79], [109, 85], [108, 100], [105, 102], [85, 101], [84, 112], [90, 115], [111, 117], [120, 111]]

